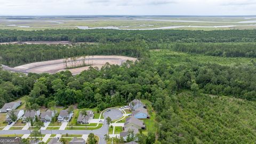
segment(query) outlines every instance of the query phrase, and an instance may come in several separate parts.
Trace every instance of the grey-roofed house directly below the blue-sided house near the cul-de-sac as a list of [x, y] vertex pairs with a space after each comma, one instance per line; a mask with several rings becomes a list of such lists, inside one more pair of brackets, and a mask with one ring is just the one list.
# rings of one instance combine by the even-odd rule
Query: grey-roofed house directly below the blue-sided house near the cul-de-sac
[[136, 127], [137, 129], [146, 129], [146, 125], [144, 125], [143, 121], [140, 121], [140, 119], [135, 118], [134, 116], [127, 117], [126, 122], [124, 123], [124, 131], [127, 131], [127, 129], [130, 129], [131, 127]]

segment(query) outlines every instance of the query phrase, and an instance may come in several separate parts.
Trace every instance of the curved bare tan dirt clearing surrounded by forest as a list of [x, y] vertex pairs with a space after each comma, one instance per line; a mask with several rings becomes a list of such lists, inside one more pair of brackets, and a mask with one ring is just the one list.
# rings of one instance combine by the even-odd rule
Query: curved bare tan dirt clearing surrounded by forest
[[[29, 63], [27, 65], [22, 65], [18, 67], [14, 67], [12, 69], [7, 69], [11, 71], [23, 71], [24, 73], [50, 73], [54, 74], [62, 70], [66, 70], [65, 65], [71, 66], [74, 65], [74, 63], [81, 63], [83, 60], [83, 57], [77, 58], [76, 61], [73, 62], [67, 62], [65, 63], [65, 59], [59, 59], [59, 60], [50, 60], [50, 61], [42, 61], [42, 62], [34, 62]], [[93, 55], [93, 56], [87, 56], [84, 59], [84, 62], [86, 64], [89, 64], [91, 66], [86, 67], [80, 67], [80, 68], [74, 68], [74, 69], [68, 69], [71, 71], [73, 75], [81, 73], [83, 70], [89, 69], [89, 67], [98, 67], [99, 69], [105, 65], [107, 62], [110, 65], [121, 65], [123, 62], [126, 62], [126, 60], [135, 61], [136, 58], [131, 57], [124, 57], [124, 56], [117, 56], [117, 55]]]

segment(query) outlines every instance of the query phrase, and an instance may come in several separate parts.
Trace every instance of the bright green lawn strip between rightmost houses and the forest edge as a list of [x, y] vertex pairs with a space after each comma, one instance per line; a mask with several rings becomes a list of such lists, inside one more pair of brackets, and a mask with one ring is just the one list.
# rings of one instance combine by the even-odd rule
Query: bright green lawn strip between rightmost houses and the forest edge
[[150, 115], [149, 119], [141, 119], [143, 120], [144, 124], [146, 125], [146, 130], [143, 131], [144, 134], [148, 132], [156, 132], [156, 112], [151, 106], [151, 102], [148, 100], [141, 100], [146, 106], [148, 110], [148, 114]]

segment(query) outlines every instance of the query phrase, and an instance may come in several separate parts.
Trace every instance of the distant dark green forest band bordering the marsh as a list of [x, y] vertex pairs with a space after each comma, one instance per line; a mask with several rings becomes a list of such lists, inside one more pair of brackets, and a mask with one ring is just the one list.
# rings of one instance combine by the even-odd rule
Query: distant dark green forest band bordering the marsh
[[121, 42], [255, 42], [256, 30], [0, 30], [0, 43], [25, 41]]

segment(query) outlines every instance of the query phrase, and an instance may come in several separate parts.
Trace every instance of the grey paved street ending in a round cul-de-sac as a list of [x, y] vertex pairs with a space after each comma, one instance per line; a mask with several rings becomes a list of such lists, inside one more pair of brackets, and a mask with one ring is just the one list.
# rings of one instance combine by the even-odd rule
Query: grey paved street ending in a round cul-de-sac
[[[90, 134], [94, 133], [98, 135], [100, 138], [99, 144], [106, 144], [104, 140], [104, 135], [108, 133], [108, 125], [106, 121], [106, 117], [110, 117], [111, 119], [118, 119], [123, 116], [120, 110], [111, 109], [110, 111], [106, 111], [103, 113], [105, 117], [105, 121], [100, 129], [97, 130], [41, 130], [42, 134]], [[29, 130], [6, 130], [0, 131], [0, 134], [29, 134]]]

